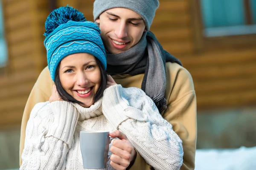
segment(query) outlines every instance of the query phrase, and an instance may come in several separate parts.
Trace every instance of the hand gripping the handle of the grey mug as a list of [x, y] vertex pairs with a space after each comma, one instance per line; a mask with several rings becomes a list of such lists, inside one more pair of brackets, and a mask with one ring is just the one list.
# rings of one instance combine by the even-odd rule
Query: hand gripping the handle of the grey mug
[[136, 159], [136, 151], [127, 136], [119, 130], [115, 130], [109, 135], [120, 139], [115, 139], [110, 147], [110, 151], [113, 153], [110, 157], [110, 164], [116, 170], [125, 170], [131, 161]]

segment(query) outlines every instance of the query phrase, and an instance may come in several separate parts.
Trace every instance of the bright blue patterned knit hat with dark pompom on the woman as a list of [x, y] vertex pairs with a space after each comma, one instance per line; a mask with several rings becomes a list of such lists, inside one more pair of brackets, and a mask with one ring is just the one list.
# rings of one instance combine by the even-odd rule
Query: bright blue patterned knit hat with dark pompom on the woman
[[99, 27], [86, 21], [77, 9], [65, 6], [53, 10], [47, 17], [45, 30], [44, 46], [47, 49], [47, 63], [53, 81], [58, 64], [70, 54], [92, 54], [107, 68]]

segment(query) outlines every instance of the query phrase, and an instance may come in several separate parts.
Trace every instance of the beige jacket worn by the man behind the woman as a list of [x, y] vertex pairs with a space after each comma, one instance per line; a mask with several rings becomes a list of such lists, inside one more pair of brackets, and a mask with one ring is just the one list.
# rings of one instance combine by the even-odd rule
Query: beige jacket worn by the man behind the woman
[[[112, 76], [117, 84], [123, 87], [141, 88], [144, 74], [136, 76], [114, 75]], [[166, 92], [165, 98], [168, 101], [167, 109], [162, 113], [163, 118], [170, 122], [173, 130], [183, 142], [183, 165], [180, 170], [195, 169], [195, 149], [197, 138], [196, 122], [196, 96], [193, 80], [189, 72], [177, 63], [166, 63]], [[154, 82], [152, 82], [154, 83]], [[29, 95], [23, 113], [20, 133], [20, 165], [21, 154], [24, 148], [26, 124], [32, 108], [38, 102], [46, 102], [52, 94], [52, 79], [48, 67], [44, 68], [35, 82]], [[136, 160], [130, 170], [150, 170], [144, 159], [137, 152]]]

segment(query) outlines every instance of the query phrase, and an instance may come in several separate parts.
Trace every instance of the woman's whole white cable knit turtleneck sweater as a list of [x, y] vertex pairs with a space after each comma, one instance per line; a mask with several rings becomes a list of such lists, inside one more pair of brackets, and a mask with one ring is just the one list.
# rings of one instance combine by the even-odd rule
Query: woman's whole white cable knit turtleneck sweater
[[[26, 127], [20, 170], [83, 170], [80, 131], [116, 129], [154, 169], [180, 169], [182, 141], [154, 102], [138, 88], [113, 85], [90, 108], [65, 101], [35, 105]], [[107, 169], [113, 167], [107, 164]]]

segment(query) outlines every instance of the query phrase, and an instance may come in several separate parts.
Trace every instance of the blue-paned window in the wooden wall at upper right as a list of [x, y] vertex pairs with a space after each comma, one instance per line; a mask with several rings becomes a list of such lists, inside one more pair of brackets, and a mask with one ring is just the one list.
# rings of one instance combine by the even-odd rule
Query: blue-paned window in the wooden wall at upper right
[[256, 0], [201, 0], [204, 36], [256, 34]]

